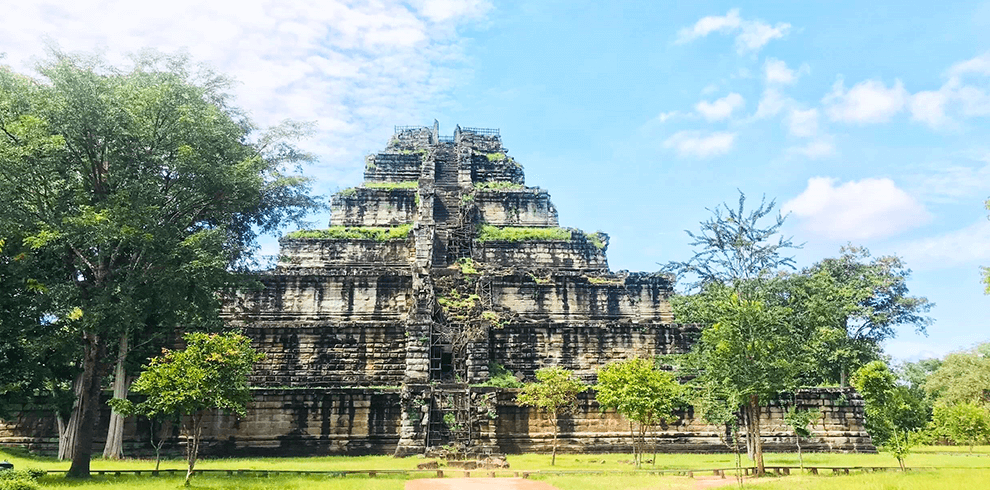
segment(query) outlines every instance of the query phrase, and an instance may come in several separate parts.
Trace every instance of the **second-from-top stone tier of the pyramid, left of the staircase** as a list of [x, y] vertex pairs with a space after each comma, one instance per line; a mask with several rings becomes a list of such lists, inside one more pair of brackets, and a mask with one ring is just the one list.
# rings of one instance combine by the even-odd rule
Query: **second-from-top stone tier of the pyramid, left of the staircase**
[[415, 218], [416, 189], [357, 187], [330, 201], [330, 226], [395, 226]]

